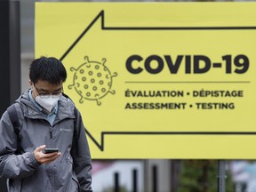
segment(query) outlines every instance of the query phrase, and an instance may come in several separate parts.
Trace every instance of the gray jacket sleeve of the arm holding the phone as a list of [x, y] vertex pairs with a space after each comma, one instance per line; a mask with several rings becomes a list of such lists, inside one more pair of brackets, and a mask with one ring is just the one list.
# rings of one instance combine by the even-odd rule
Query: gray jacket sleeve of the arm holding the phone
[[9, 179], [32, 175], [40, 165], [33, 152], [15, 155], [17, 136], [7, 111], [0, 121], [0, 177]]

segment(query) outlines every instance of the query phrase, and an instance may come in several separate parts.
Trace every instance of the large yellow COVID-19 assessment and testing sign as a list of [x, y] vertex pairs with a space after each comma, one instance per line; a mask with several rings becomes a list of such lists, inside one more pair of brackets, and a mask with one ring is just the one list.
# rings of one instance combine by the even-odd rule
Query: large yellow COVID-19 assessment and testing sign
[[36, 3], [92, 158], [255, 158], [256, 3]]

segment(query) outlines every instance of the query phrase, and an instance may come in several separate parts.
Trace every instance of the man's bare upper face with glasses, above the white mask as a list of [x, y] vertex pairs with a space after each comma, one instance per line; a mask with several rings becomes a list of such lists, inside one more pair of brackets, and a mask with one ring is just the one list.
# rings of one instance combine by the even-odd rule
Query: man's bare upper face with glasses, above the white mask
[[48, 81], [38, 80], [36, 84], [33, 85], [32, 97], [35, 99], [36, 96], [43, 95], [60, 95], [62, 92], [62, 83], [60, 84], [50, 84]]

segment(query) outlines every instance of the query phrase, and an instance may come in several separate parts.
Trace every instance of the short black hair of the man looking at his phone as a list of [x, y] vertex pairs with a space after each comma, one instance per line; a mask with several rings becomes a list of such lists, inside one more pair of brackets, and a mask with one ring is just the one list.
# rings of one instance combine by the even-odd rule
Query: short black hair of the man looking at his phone
[[62, 62], [54, 57], [41, 57], [33, 60], [29, 68], [29, 79], [36, 84], [38, 80], [47, 81], [50, 84], [65, 82], [67, 71]]

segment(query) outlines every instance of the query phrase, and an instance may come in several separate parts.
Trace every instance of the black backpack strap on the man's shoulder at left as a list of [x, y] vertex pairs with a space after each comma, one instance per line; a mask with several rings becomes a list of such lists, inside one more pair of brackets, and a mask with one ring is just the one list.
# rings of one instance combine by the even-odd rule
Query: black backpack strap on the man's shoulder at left
[[9, 117], [12, 122], [13, 130], [17, 137], [17, 151], [16, 154], [19, 154], [21, 152], [20, 148], [20, 123], [19, 123], [19, 117], [17, 114], [17, 110], [15, 108], [15, 105], [12, 104], [9, 108], [7, 108], [7, 111], [9, 113]]

